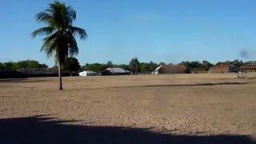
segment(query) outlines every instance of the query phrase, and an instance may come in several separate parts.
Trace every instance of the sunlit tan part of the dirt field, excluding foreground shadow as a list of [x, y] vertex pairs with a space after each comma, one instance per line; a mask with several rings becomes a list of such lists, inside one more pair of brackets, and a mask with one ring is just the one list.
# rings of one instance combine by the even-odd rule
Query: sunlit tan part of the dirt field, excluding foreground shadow
[[[236, 74], [29, 78], [0, 82], [0, 118], [46, 115], [79, 126], [256, 136], [256, 80]], [[48, 115], [49, 114], [49, 115]], [[1, 123], [0, 123], [1, 125]]]

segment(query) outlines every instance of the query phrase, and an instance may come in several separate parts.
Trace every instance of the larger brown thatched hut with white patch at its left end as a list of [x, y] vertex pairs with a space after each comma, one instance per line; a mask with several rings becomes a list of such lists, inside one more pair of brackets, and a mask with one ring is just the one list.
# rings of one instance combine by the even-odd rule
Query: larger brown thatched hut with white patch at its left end
[[159, 66], [152, 74], [187, 74], [189, 71], [184, 65]]

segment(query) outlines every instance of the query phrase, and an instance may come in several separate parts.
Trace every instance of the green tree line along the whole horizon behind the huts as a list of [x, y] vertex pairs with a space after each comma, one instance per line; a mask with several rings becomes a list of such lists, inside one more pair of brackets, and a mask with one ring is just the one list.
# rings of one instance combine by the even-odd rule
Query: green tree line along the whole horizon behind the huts
[[[222, 64], [230, 64], [233, 65], [237, 70], [241, 66], [245, 66], [249, 63], [255, 63], [254, 61], [250, 62], [242, 62], [238, 59], [234, 61], [226, 61], [226, 62], [217, 62], [216, 65]], [[83, 70], [92, 70], [97, 73], [102, 72], [102, 70], [106, 70], [107, 68], [112, 67], [120, 67], [124, 70], [129, 70], [133, 74], [150, 74], [154, 71], [158, 66], [166, 66], [172, 65], [172, 63], [166, 64], [165, 62], [139, 62], [138, 58], [132, 58], [129, 64], [114, 64], [113, 62], [109, 61], [106, 63], [86, 63], [85, 66], [80, 66], [77, 58], [67, 58], [66, 63], [63, 66], [63, 70], [70, 72], [79, 72]], [[189, 70], [191, 73], [198, 72], [198, 71], [207, 71], [210, 70], [211, 66], [214, 64], [208, 61], [184, 61], [178, 63], [178, 65], [186, 66], [186, 69]], [[0, 62], [0, 70], [21, 70], [21, 69], [34, 69], [34, 68], [47, 68], [46, 64], [41, 64], [35, 60], [26, 60], [26, 61], [19, 61], [19, 62]], [[54, 66], [56, 67], [56, 66]], [[57, 67], [56, 67], [57, 69]]]

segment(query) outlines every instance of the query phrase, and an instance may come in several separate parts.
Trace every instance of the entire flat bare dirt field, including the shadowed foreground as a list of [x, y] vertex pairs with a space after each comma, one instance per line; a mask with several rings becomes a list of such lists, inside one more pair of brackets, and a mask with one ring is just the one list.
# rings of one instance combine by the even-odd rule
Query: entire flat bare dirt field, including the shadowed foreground
[[255, 143], [256, 79], [236, 74], [0, 81], [0, 143]]

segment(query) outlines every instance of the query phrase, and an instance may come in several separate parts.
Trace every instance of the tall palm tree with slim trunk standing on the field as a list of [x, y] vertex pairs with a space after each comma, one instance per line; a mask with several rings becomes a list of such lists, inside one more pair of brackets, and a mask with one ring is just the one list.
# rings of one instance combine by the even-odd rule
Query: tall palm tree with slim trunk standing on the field
[[62, 90], [62, 65], [66, 58], [78, 54], [78, 45], [75, 36], [85, 39], [86, 30], [72, 26], [76, 18], [76, 12], [71, 6], [62, 2], [54, 2], [50, 7], [36, 15], [37, 21], [47, 26], [35, 30], [32, 37], [45, 35], [40, 51], [45, 51], [47, 58], [54, 56], [58, 64], [59, 90]]

